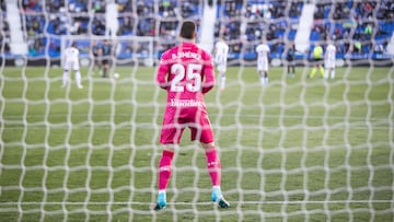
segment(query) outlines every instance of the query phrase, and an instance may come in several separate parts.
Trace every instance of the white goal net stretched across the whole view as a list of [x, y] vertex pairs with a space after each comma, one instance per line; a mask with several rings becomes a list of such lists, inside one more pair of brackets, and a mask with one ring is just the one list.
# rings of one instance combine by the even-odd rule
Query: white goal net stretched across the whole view
[[[383, 0], [1, 1], [0, 221], [393, 221], [393, 9]], [[157, 212], [165, 94], [154, 74], [185, 19], [207, 50], [219, 37], [230, 45], [227, 87], [206, 103], [231, 207], [210, 201], [204, 151], [186, 130]], [[256, 69], [263, 37], [267, 85]], [[93, 55], [105, 40], [108, 78]], [[83, 89], [61, 87], [71, 42]], [[325, 79], [312, 56], [331, 42], [337, 66]]]

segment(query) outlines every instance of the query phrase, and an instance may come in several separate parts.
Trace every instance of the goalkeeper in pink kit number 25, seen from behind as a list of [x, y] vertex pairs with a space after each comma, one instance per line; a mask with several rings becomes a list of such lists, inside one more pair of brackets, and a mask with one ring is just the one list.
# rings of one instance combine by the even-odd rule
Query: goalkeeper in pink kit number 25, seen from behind
[[220, 189], [221, 165], [204, 102], [204, 94], [215, 85], [213, 65], [210, 54], [195, 44], [196, 35], [196, 24], [184, 21], [179, 34], [182, 43], [163, 52], [157, 73], [157, 83], [167, 92], [167, 98], [160, 136], [164, 150], [159, 163], [159, 194], [154, 210], [162, 210], [167, 205], [166, 187], [172, 160], [186, 127], [190, 129], [190, 139], [198, 140], [205, 149], [212, 182], [211, 201], [218, 202], [220, 208], [230, 207]]

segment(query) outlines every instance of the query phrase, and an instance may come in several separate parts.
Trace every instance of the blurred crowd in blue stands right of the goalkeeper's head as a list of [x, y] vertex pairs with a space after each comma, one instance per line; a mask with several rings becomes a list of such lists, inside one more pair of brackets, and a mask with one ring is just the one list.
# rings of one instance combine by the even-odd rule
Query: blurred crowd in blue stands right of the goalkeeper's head
[[[311, 49], [315, 42], [332, 39], [339, 58], [386, 50], [394, 31], [393, 1], [315, 2]], [[282, 58], [288, 44], [294, 40], [305, 3], [309, 1], [224, 1], [219, 10], [216, 36], [224, 36], [230, 50], [242, 52], [244, 58], [255, 58], [254, 48], [264, 37], [271, 48], [271, 57]]]

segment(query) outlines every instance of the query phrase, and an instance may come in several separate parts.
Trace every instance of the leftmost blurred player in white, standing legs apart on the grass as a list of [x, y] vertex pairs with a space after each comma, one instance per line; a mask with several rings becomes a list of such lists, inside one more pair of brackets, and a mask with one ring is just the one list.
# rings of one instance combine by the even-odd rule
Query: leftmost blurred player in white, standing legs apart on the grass
[[81, 84], [81, 72], [79, 65], [79, 49], [76, 47], [76, 44], [72, 43], [63, 51], [63, 74], [62, 74], [62, 87], [67, 86], [69, 81], [69, 73], [73, 69], [76, 74], [76, 82], [79, 89], [82, 89]]

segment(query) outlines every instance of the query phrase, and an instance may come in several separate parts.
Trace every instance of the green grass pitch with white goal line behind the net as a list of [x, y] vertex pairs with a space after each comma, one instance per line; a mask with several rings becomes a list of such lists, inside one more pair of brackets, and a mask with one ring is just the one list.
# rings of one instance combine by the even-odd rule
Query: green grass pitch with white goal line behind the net
[[154, 68], [1, 70], [0, 221], [393, 221], [394, 72], [338, 68], [336, 79], [288, 79], [230, 67], [206, 96], [231, 209], [209, 202], [205, 155], [185, 131], [155, 200], [165, 92]]

